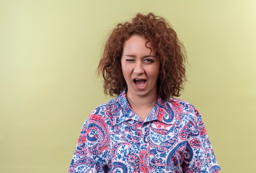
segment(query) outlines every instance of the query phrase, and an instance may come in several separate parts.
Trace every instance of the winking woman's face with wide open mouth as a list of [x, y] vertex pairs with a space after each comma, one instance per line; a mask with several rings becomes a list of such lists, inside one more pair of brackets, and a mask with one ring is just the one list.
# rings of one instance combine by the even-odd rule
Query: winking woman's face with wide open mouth
[[[160, 61], [155, 50], [146, 48], [146, 39], [133, 35], [124, 42], [121, 66], [129, 96], [157, 94]], [[147, 44], [150, 47], [150, 43]]]

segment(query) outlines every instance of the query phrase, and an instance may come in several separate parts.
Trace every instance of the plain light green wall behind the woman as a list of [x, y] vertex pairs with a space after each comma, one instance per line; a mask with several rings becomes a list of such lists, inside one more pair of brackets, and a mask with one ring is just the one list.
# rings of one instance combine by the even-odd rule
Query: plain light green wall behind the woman
[[0, 0], [0, 172], [67, 172], [104, 96], [106, 35], [135, 13], [171, 22], [189, 59], [180, 97], [202, 114], [221, 173], [255, 172], [256, 1]]

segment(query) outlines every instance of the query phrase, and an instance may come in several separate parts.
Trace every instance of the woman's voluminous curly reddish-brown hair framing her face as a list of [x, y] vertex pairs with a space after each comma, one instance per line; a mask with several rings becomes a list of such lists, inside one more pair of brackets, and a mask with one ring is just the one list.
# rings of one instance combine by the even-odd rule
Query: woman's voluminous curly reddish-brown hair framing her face
[[104, 93], [115, 96], [127, 88], [121, 56], [124, 42], [132, 35], [145, 37], [148, 40], [146, 44], [150, 42], [160, 59], [157, 94], [163, 99], [180, 96], [183, 82], [186, 81], [186, 52], [171, 24], [153, 13], [137, 13], [131, 22], [117, 24], [109, 35], [97, 68], [98, 74], [103, 75]]

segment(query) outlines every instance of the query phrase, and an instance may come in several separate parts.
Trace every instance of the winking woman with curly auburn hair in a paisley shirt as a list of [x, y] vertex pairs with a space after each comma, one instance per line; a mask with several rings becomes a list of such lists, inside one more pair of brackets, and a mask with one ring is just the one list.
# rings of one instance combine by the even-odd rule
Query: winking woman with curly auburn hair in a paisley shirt
[[138, 13], [110, 34], [99, 62], [104, 91], [117, 96], [86, 119], [70, 173], [217, 173], [201, 115], [175, 99], [186, 56], [171, 25]]

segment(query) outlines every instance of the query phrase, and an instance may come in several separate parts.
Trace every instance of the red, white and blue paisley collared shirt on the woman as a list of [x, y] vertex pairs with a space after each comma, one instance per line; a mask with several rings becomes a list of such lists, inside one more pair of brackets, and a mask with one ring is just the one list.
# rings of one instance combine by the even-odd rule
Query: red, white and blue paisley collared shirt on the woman
[[193, 105], [158, 97], [142, 121], [125, 90], [83, 124], [69, 173], [218, 173], [201, 115]]

